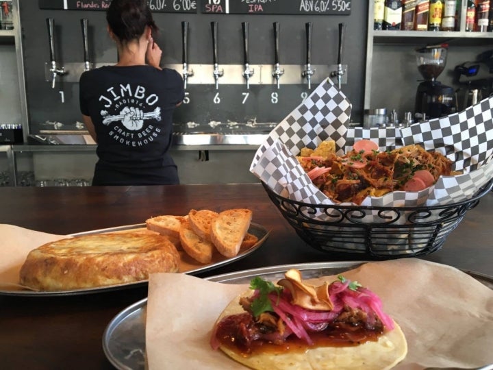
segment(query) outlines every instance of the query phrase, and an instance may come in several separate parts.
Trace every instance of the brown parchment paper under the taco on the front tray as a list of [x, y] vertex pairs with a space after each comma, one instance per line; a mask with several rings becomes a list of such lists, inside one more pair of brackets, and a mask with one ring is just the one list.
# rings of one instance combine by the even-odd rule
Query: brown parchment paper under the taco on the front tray
[[[369, 262], [343, 275], [375, 291], [385, 312], [401, 325], [409, 351], [395, 369], [493, 363], [493, 291], [473, 277], [416, 258]], [[220, 312], [247, 289], [190, 275], [151, 275], [149, 369], [245, 369], [214, 351], [209, 340]]]

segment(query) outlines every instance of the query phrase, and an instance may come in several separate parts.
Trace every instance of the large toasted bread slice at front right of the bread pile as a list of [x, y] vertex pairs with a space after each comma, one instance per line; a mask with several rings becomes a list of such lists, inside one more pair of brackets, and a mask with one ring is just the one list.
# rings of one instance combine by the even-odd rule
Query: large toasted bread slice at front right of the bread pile
[[220, 212], [211, 224], [211, 239], [214, 246], [225, 257], [238, 254], [250, 227], [253, 212], [247, 208], [236, 208]]

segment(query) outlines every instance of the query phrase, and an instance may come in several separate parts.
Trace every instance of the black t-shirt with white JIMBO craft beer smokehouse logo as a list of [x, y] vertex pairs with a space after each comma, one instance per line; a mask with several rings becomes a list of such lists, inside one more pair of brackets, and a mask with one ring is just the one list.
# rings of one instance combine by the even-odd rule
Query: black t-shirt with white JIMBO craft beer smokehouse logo
[[185, 95], [177, 71], [103, 66], [82, 73], [79, 89], [81, 113], [91, 117], [97, 134], [94, 177], [114, 179], [101, 184], [178, 182], [168, 153], [173, 111]]

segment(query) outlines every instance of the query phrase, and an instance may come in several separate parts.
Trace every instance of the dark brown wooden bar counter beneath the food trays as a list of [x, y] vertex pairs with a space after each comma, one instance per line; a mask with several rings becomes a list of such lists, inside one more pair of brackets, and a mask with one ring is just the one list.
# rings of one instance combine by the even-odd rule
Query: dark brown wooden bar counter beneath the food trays
[[[0, 223], [72, 234], [144, 223], [191, 208], [250, 208], [270, 231], [257, 251], [200, 277], [279, 264], [355, 260], [305, 245], [271, 203], [261, 184], [0, 188]], [[493, 275], [493, 193], [481, 199], [444, 246], [425, 260]], [[1, 240], [1, 239], [0, 239]], [[0, 241], [0, 247], [5, 247]], [[364, 256], [357, 258], [365, 260]], [[87, 295], [0, 295], [1, 369], [113, 369], [102, 337], [106, 325], [147, 296], [147, 287]]]

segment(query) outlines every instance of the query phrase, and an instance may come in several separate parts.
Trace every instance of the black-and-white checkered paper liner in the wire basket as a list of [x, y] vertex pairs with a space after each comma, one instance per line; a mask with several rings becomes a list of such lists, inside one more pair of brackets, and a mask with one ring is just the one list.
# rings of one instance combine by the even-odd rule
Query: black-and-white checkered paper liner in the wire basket
[[[419, 144], [451, 159], [463, 175], [442, 176], [420, 192], [394, 191], [383, 197], [366, 197], [362, 206], [415, 207], [451, 204], [468, 199], [493, 174], [493, 98], [463, 112], [396, 127], [349, 127], [351, 103], [331, 79], [320, 83], [257, 149], [250, 171], [275, 193], [307, 204], [335, 205], [306, 175], [296, 160], [301, 148], [315, 148], [324, 140], [336, 142], [338, 155], [349, 151], [356, 140], [370, 138], [381, 151]], [[317, 217], [314, 214], [314, 217]]]

